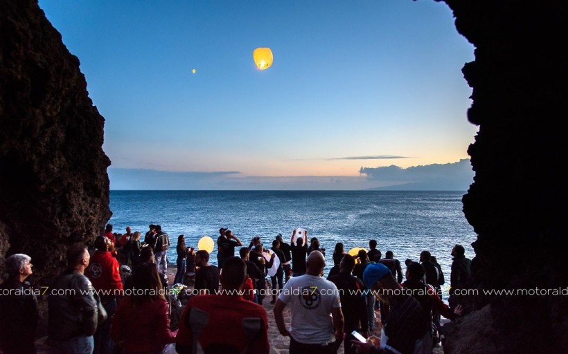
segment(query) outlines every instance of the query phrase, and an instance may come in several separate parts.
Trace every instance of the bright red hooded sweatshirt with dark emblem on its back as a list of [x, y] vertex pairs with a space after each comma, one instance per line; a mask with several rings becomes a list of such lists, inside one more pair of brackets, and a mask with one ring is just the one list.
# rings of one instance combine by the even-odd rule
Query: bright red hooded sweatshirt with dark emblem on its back
[[[95, 251], [89, 261], [89, 268], [85, 272], [85, 275], [89, 277], [91, 283], [96, 290], [115, 290], [123, 289], [123, 283], [121, 280], [121, 272], [118, 269], [120, 265], [116, 258], [112, 257], [110, 252]], [[115, 295], [119, 294], [99, 294], [99, 295]]]

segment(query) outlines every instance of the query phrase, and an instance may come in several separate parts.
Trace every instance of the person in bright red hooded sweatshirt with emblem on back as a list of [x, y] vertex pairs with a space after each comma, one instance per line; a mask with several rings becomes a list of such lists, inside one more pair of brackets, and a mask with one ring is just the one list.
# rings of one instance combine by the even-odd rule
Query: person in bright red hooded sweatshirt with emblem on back
[[[109, 250], [112, 248], [112, 241], [105, 236], [98, 236], [94, 243], [95, 252], [91, 256], [89, 268], [85, 275], [89, 278], [93, 287], [99, 290], [100, 301], [107, 310], [108, 318], [116, 309], [116, 299], [123, 292], [121, 281], [120, 265], [116, 258], [112, 257]], [[110, 337], [110, 320], [103, 322], [97, 327], [94, 335], [95, 349], [94, 354], [112, 354], [114, 343]]]

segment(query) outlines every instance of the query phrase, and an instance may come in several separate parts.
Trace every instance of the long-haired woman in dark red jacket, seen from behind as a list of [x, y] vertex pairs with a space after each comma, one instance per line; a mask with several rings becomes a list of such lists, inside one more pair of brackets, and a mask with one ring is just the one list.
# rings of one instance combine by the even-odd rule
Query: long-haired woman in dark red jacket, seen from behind
[[112, 317], [112, 339], [125, 354], [160, 353], [175, 342], [175, 333], [170, 331], [168, 301], [156, 265], [141, 263], [132, 275], [132, 286]]

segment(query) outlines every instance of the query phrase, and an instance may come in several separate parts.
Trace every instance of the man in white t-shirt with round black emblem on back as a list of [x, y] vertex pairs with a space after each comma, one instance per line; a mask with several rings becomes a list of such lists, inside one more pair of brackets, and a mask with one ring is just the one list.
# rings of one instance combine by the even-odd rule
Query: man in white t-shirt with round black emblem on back
[[[337, 353], [344, 337], [339, 291], [320, 275], [326, 266], [321, 252], [311, 252], [306, 266], [306, 274], [291, 278], [278, 296], [274, 305], [276, 326], [281, 335], [290, 337], [290, 354]], [[282, 315], [288, 304], [292, 313], [290, 330]]]

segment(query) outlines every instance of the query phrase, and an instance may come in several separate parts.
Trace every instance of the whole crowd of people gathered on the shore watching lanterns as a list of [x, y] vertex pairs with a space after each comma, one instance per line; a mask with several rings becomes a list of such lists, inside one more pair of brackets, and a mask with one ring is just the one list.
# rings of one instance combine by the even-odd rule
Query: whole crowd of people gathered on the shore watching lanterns
[[[177, 238], [177, 272], [168, 283], [170, 237], [160, 225], [125, 234], [107, 225], [91, 246], [71, 246], [67, 267], [53, 278], [48, 296], [48, 338], [55, 353], [268, 353], [267, 311], [272, 295], [279, 333], [290, 337], [290, 353], [432, 353], [439, 342], [440, 317], [454, 319], [463, 309], [452, 292], [468, 286], [470, 260], [461, 245], [452, 249], [450, 306], [441, 300], [445, 283], [441, 266], [427, 250], [419, 261], [402, 265], [375, 240], [356, 255], [337, 243], [327, 277], [326, 250], [308, 242], [308, 230], [260, 236], [245, 247], [225, 227], [217, 240], [218, 265], [206, 250]], [[238, 255], [235, 249], [239, 248]], [[35, 353], [38, 323], [35, 292], [26, 279], [30, 257], [6, 259], [8, 278], [0, 284], [0, 348], [3, 353]], [[270, 275], [268, 275], [270, 272]], [[269, 281], [267, 281], [269, 277]], [[188, 301], [171, 328], [174, 283], [190, 285]], [[8, 291], [6, 291], [8, 290]], [[63, 291], [62, 291], [63, 290]], [[404, 291], [407, 290], [407, 291]], [[290, 308], [290, 324], [283, 310]], [[380, 309], [381, 337], [370, 336]], [[368, 337], [362, 342], [353, 333]], [[175, 353], [172, 351], [172, 353]]]

